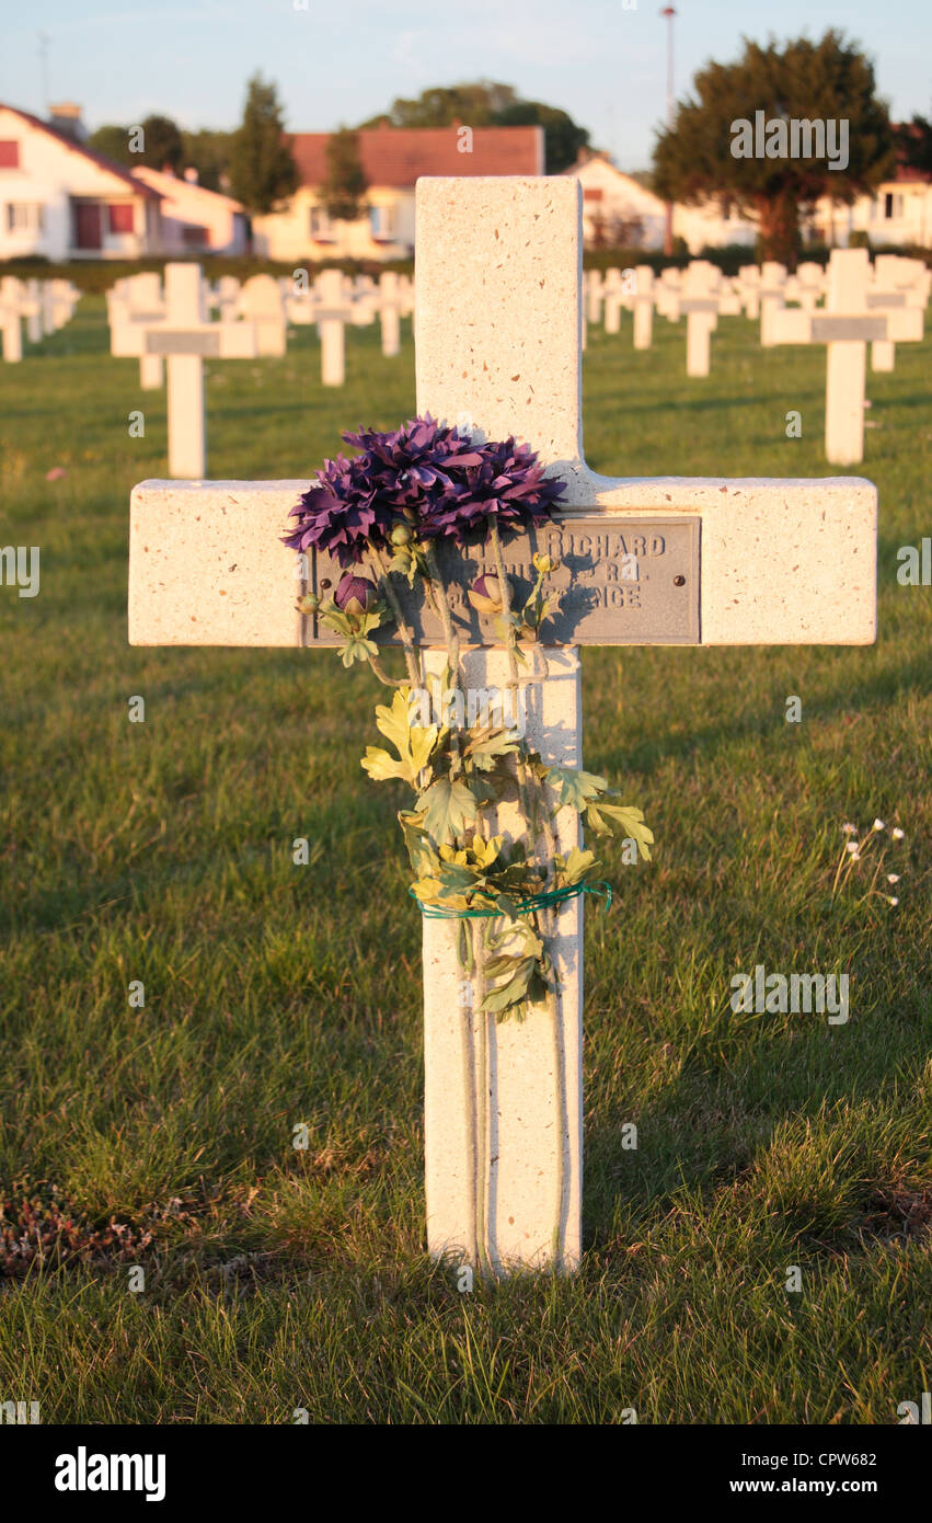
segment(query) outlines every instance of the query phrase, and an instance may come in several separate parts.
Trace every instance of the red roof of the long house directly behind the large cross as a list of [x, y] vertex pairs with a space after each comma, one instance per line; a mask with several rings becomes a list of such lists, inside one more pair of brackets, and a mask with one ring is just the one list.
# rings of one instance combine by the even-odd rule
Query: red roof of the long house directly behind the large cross
[[[460, 152], [460, 126], [373, 126], [359, 139], [362, 171], [370, 186], [410, 189], [420, 175], [544, 174], [544, 128], [474, 126], [472, 152]], [[292, 133], [288, 139], [302, 184], [327, 178], [329, 133]]]

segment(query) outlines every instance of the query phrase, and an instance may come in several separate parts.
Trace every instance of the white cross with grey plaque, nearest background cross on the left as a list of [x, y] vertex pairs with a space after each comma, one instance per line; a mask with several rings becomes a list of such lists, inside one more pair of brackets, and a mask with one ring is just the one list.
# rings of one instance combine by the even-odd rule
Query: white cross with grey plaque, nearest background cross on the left
[[168, 359], [169, 475], [203, 477], [207, 471], [204, 359], [253, 359], [253, 323], [209, 323], [198, 265], [164, 267], [164, 317], [113, 330], [114, 355]]

